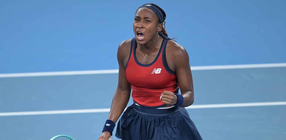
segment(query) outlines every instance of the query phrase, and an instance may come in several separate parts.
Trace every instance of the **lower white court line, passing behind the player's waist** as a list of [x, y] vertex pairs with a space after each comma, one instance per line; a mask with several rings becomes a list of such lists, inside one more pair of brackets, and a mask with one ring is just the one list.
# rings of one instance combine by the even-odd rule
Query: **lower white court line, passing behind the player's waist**
[[[191, 106], [185, 107], [185, 108], [186, 109], [197, 109], [197, 108], [254, 107], [254, 106], [273, 106], [273, 105], [286, 105], [286, 101], [281, 101], [281, 102], [256, 102], [256, 103], [232, 103], [232, 104], [201, 104], [201, 105], [191, 105]], [[25, 112], [2, 112], [2, 113], [0, 113], [0, 116], [103, 113], [103, 112], [109, 112], [109, 111], [110, 111], [110, 108], [78, 109], [78, 110], [25, 111]]]

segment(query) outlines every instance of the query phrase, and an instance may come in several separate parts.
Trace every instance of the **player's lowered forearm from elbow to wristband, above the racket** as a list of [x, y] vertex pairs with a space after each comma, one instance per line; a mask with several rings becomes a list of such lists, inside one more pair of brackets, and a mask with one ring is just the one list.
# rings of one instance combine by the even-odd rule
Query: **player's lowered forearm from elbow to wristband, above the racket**
[[130, 91], [122, 91], [117, 88], [111, 103], [108, 120], [112, 120], [114, 123], [117, 122], [118, 118], [124, 111], [129, 101], [129, 98], [130, 98]]

